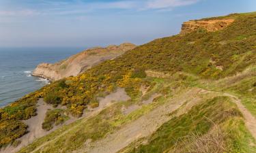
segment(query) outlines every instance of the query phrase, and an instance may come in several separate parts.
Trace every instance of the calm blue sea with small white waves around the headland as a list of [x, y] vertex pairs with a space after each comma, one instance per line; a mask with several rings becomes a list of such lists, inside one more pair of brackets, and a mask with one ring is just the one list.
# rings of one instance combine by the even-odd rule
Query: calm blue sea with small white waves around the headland
[[39, 63], [55, 63], [83, 48], [0, 48], [0, 107], [48, 84], [31, 72]]

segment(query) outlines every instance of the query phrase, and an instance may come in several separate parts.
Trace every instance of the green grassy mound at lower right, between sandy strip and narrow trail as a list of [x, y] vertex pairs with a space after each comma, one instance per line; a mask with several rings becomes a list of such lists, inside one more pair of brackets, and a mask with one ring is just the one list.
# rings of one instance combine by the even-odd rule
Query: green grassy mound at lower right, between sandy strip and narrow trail
[[[255, 143], [255, 140], [246, 130], [236, 105], [227, 97], [215, 97], [193, 107], [187, 114], [175, 117], [160, 126], [144, 145], [132, 143], [123, 152], [193, 152], [188, 150], [190, 148], [193, 148], [194, 152], [199, 152], [200, 148], [195, 147], [199, 141], [191, 138], [197, 136], [196, 138], [199, 139], [207, 135], [210, 131], [214, 131], [212, 130], [214, 126], [218, 126], [221, 133], [225, 133], [223, 152], [256, 151], [255, 147], [249, 145]], [[212, 138], [216, 138], [216, 135]], [[204, 145], [212, 147], [212, 151], [218, 148], [208, 143]]]

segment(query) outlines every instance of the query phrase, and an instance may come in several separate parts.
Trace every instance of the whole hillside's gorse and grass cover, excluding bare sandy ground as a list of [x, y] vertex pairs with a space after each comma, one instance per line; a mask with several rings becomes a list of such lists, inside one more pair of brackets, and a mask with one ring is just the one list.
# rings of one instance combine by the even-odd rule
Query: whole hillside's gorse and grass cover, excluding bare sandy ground
[[[159, 105], [172, 101], [171, 98], [174, 95], [184, 93], [191, 86], [236, 94], [252, 114], [255, 114], [255, 92], [253, 92], [255, 90], [253, 84], [256, 81], [255, 73], [249, 71], [248, 75], [242, 75], [242, 77], [237, 77], [236, 74], [246, 73], [245, 70], [256, 63], [256, 13], [231, 14], [203, 20], [224, 19], [232, 19], [233, 22], [224, 29], [216, 29], [216, 31], [208, 31], [199, 27], [184, 35], [156, 39], [114, 60], [100, 63], [81, 75], [53, 82], [1, 109], [0, 131], [3, 134], [0, 145], [6, 146], [9, 143], [15, 145], [18, 143], [15, 139], [27, 132], [27, 126], [21, 120], [35, 116], [35, 104], [38, 98], [44, 98], [46, 103], [55, 106], [66, 105], [68, 112], [73, 116], [81, 116], [84, 109], [98, 106], [98, 97], [113, 92], [117, 87], [125, 88], [131, 99], [117, 103], [89, 119], [82, 119], [74, 124], [63, 126], [50, 135], [31, 143], [21, 152], [33, 150], [72, 152], [78, 148], [87, 148], [86, 144], [90, 141], [98, 141], [108, 133], [114, 133], [125, 124], [148, 114]], [[160, 75], [151, 77], [145, 73], [148, 70]], [[142, 95], [141, 86], [148, 87], [146, 95]], [[240, 90], [240, 87], [244, 90], [251, 90], [251, 92], [244, 92]], [[154, 103], [141, 102], [143, 99], [150, 98], [154, 92], [161, 93], [162, 96], [155, 99]], [[192, 109], [188, 107], [183, 114], [177, 114], [176, 118], [171, 118], [162, 126], [159, 125], [160, 129], [152, 135], [152, 138], [148, 138], [146, 143], [143, 141], [136, 143], [136, 148], [137, 146], [140, 148], [139, 151], [132, 146], [129, 146], [127, 150], [143, 152], [147, 150], [143, 146], [149, 143], [156, 146], [156, 148], [148, 147], [149, 152], [166, 150], [178, 150], [179, 152], [182, 148], [186, 152], [186, 144], [188, 144], [188, 149], [196, 150], [198, 149], [195, 148], [197, 143], [204, 143], [205, 137], [215, 139], [218, 135], [223, 135], [221, 140], [224, 151], [255, 151], [255, 140], [244, 126], [244, 118], [240, 115], [236, 105], [233, 105], [227, 96], [216, 97], [212, 100], [205, 98], [205, 101], [205, 103], [201, 101], [195, 106], [192, 105], [191, 107], [194, 107]], [[190, 101], [186, 103], [189, 104]], [[220, 109], [217, 105], [220, 105]], [[137, 109], [130, 114], [123, 114], [123, 107]], [[202, 112], [201, 115], [195, 114], [195, 110]], [[206, 110], [209, 113], [205, 112]], [[194, 116], [195, 122], [191, 123], [189, 121], [191, 118], [188, 116]], [[214, 116], [220, 116], [221, 120], [216, 120]], [[183, 122], [186, 120], [189, 122]], [[173, 124], [173, 122], [178, 124]], [[191, 124], [197, 123], [195, 129], [190, 129]], [[175, 128], [181, 128], [179, 124], [182, 124], [184, 129], [190, 129], [190, 133], [181, 129], [175, 135]], [[218, 134], [220, 130], [214, 128], [215, 124], [218, 129], [221, 129], [220, 134]], [[72, 126], [76, 128], [72, 129]], [[227, 131], [230, 126], [234, 129]], [[166, 133], [166, 135], [161, 133]], [[171, 140], [172, 137], [174, 140]], [[182, 137], [190, 138], [182, 139]], [[197, 137], [202, 141], [193, 141]], [[138, 136], [138, 139], [140, 138]], [[161, 140], [156, 141], [155, 138]], [[47, 143], [49, 139], [53, 141]], [[180, 146], [175, 145], [178, 139], [183, 140]], [[161, 141], [170, 141], [170, 143], [160, 148]], [[44, 146], [40, 147], [42, 144]], [[209, 144], [209, 148], [211, 151], [212, 144]]]

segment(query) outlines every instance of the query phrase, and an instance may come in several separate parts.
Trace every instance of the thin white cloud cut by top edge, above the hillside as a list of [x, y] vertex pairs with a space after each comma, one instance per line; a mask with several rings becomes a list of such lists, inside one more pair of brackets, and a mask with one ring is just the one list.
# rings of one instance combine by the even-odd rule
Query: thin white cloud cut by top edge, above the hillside
[[149, 0], [146, 3], [146, 9], [166, 9], [183, 5], [191, 5], [199, 0]]

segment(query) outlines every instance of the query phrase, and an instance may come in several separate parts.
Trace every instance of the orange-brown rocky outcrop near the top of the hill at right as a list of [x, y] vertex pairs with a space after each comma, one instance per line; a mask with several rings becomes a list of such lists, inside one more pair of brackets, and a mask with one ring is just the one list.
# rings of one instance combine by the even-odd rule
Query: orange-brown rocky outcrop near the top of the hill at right
[[221, 19], [221, 20], [190, 20], [182, 24], [182, 31], [180, 34], [191, 33], [197, 29], [203, 28], [207, 31], [219, 31], [225, 29], [234, 20], [233, 19]]

